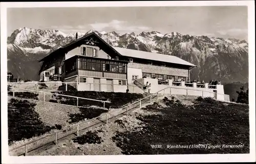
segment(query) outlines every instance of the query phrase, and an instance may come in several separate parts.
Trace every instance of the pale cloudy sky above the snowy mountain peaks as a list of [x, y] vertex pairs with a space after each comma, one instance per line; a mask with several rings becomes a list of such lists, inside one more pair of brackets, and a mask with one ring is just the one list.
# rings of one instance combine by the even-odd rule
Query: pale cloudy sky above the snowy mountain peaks
[[157, 31], [247, 40], [247, 19], [246, 6], [8, 8], [7, 35], [27, 27], [65, 34]]

